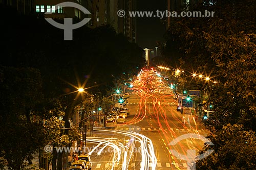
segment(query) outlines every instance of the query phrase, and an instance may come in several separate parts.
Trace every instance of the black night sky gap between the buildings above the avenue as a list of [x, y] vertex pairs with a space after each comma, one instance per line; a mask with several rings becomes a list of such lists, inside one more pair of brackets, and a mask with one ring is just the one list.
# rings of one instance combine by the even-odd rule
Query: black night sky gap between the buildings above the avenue
[[[165, 0], [137, 0], [137, 11], [165, 11]], [[140, 47], [154, 48], [156, 41], [163, 43], [163, 34], [166, 30], [165, 18], [137, 17], [137, 43]]]

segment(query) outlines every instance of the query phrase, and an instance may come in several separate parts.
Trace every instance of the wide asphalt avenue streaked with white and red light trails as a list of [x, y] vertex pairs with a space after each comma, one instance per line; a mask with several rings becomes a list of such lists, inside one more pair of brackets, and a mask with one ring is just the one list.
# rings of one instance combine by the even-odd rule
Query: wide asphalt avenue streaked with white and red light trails
[[177, 111], [172, 95], [143, 87], [128, 101], [125, 124], [108, 123], [87, 138], [92, 169], [187, 169], [209, 134], [197, 117]]

